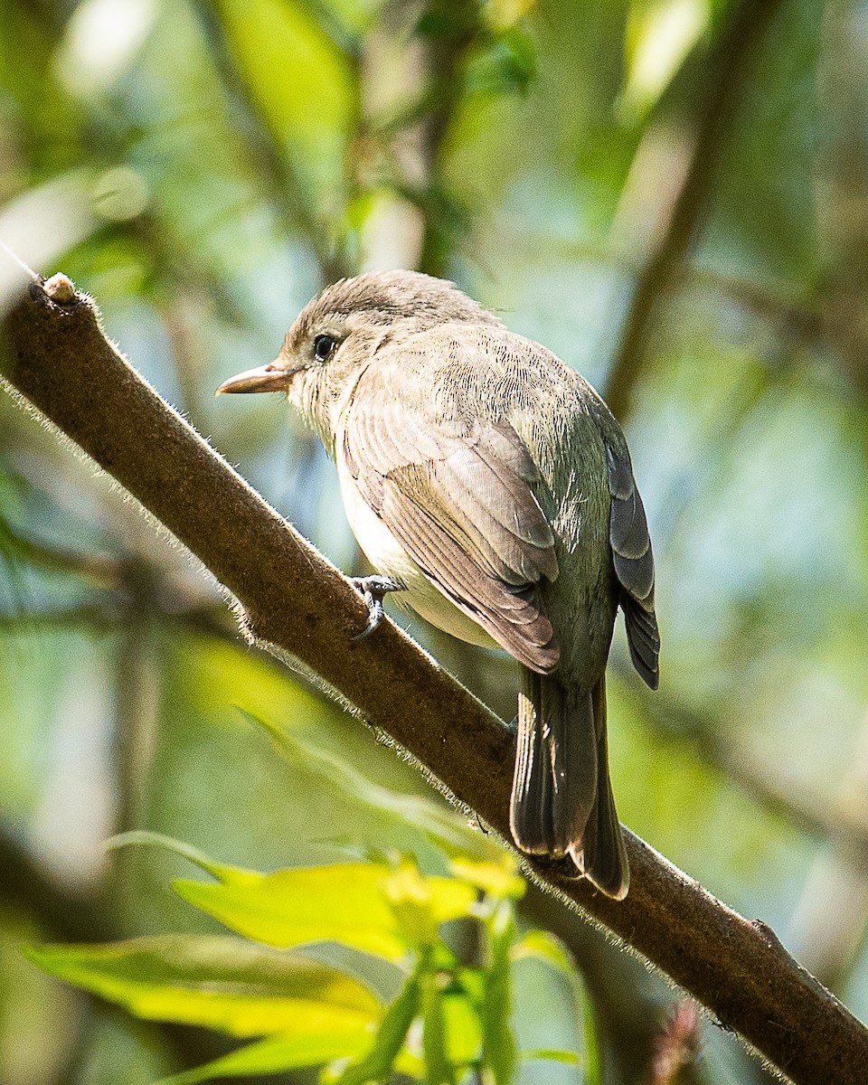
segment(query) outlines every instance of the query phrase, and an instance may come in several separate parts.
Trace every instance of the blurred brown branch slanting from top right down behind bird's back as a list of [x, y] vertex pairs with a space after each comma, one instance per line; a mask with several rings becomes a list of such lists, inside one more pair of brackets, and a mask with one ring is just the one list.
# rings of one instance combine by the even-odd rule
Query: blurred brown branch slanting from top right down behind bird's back
[[709, 94], [693, 133], [690, 162], [672, 202], [668, 222], [652, 247], [634, 289], [612, 368], [601, 390], [616, 418], [629, 413], [633, 390], [644, 369], [658, 306], [687, 254], [714, 184], [728, 124], [757, 43], [781, 0], [740, 0], [709, 58]]

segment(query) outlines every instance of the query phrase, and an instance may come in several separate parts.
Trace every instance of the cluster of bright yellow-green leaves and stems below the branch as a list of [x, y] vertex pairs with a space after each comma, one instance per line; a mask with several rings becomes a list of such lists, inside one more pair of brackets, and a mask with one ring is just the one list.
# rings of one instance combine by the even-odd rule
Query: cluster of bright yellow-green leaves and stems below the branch
[[[467, 835], [460, 820], [452, 820], [455, 833]], [[27, 956], [137, 1017], [266, 1037], [165, 1078], [165, 1085], [324, 1062], [331, 1065], [321, 1080], [333, 1085], [365, 1085], [394, 1072], [431, 1085], [455, 1085], [469, 1072], [510, 1085], [519, 1059], [585, 1062], [574, 1051], [518, 1049], [513, 962], [533, 957], [553, 966], [575, 991], [577, 1009], [585, 995], [557, 941], [544, 931], [519, 935], [513, 902], [524, 883], [506, 853], [487, 861], [460, 857], [451, 864], [452, 877], [425, 876], [412, 858], [397, 855], [388, 864], [334, 863], [263, 875], [154, 833], [114, 841], [130, 843], [167, 846], [213, 875], [216, 882], [178, 880], [175, 891], [251, 941], [156, 935], [39, 946]], [[469, 936], [478, 946], [478, 963], [462, 961], [442, 935], [443, 924], [456, 920], [478, 928]], [[353, 975], [363, 965], [342, 971], [308, 955], [321, 943], [394, 967], [399, 990], [384, 1011]]]

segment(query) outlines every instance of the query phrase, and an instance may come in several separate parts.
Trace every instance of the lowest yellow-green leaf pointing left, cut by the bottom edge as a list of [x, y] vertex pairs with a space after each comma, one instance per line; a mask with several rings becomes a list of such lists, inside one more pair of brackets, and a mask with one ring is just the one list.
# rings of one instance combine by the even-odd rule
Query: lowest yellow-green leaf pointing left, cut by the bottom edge
[[355, 1058], [370, 1047], [370, 1029], [353, 1031], [341, 1027], [304, 1034], [284, 1033], [248, 1044], [203, 1067], [165, 1077], [159, 1085], [196, 1085], [215, 1077], [248, 1077], [254, 1074], [277, 1074], [302, 1067], [319, 1067], [333, 1059]]

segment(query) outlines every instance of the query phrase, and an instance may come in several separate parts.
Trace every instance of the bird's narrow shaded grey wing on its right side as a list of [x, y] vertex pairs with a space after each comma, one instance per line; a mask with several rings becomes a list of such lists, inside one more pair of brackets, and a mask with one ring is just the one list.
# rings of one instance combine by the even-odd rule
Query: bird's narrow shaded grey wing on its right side
[[609, 492], [612, 495], [609, 538], [621, 582], [621, 608], [633, 665], [644, 681], [660, 682], [660, 633], [654, 614], [654, 556], [644, 506], [633, 477], [627, 445], [620, 432], [607, 433]]

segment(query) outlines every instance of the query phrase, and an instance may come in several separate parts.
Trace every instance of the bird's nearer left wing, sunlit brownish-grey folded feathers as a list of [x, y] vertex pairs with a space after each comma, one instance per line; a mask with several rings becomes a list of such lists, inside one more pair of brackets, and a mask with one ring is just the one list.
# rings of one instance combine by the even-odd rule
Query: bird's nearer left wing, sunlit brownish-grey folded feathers
[[347, 470], [407, 553], [521, 663], [553, 669], [559, 649], [538, 588], [558, 576], [554, 536], [515, 430], [506, 420], [435, 423], [370, 370], [345, 418]]

